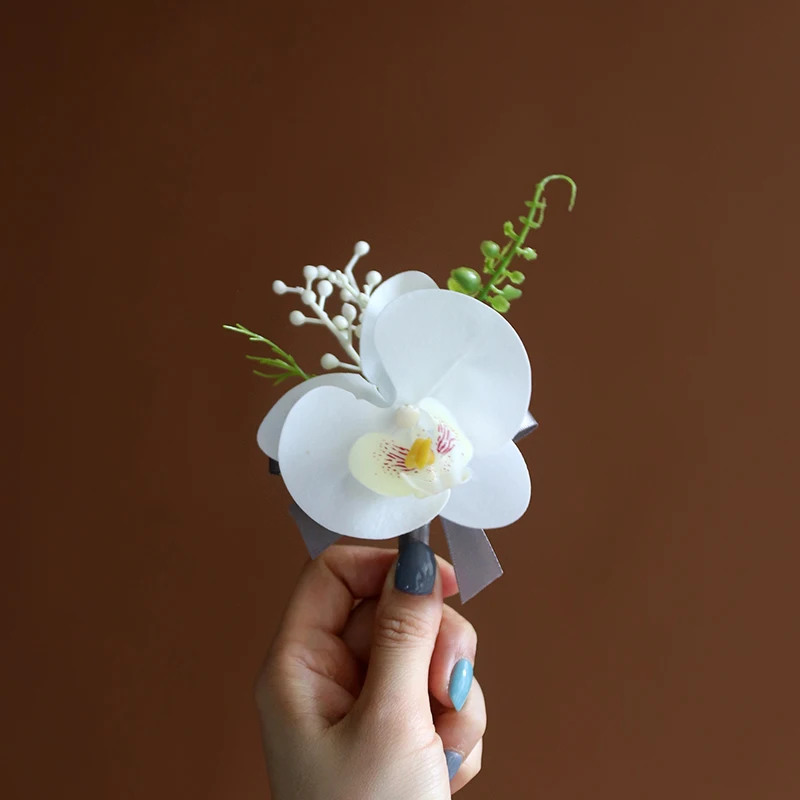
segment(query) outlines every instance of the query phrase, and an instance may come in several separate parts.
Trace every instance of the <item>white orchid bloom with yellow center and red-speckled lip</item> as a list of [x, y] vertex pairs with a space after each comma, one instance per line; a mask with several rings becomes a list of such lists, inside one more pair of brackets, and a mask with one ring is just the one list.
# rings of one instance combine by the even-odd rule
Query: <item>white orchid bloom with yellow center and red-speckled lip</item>
[[522, 516], [530, 477], [512, 439], [528, 413], [531, 372], [500, 314], [424, 273], [400, 273], [370, 298], [360, 359], [364, 377], [304, 381], [258, 431], [311, 519], [388, 539], [437, 515], [470, 528]]

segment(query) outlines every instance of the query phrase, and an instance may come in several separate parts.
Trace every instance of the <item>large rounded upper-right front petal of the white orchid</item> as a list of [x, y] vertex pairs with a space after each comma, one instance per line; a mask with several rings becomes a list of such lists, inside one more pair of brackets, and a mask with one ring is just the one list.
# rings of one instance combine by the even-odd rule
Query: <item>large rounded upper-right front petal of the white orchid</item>
[[397, 399], [440, 401], [476, 453], [503, 446], [528, 409], [531, 370], [516, 331], [485, 303], [442, 290], [403, 294], [375, 322]]

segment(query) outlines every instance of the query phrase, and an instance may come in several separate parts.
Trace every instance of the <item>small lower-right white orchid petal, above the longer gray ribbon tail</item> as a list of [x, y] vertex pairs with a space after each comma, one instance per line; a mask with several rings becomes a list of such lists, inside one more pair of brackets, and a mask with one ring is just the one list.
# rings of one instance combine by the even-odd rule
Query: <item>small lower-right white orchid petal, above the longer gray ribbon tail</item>
[[492, 453], [475, 456], [472, 480], [450, 492], [442, 517], [468, 528], [502, 528], [528, 508], [531, 479], [522, 453], [508, 442]]

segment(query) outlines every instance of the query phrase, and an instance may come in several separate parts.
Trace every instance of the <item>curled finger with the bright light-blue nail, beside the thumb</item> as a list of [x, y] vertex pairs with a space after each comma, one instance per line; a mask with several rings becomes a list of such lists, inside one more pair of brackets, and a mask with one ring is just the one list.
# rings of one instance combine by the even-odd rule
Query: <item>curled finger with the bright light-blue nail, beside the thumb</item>
[[433, 651], [430, 692], [443, 706], [461, 710], [472, 686], [478, 635], [454, 608], [444, 607]]

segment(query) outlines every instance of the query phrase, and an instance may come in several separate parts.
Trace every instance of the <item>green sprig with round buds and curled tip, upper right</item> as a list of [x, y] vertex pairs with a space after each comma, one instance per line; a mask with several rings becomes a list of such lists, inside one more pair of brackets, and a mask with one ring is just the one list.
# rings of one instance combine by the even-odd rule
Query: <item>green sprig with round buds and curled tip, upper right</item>
[[[468, 294], [477, 300], [488, 303], [495, 311], [505, 314], [511, 307], [511, 301], [522, 296], [522, 289], [518, 288], [525, 280], [525, 274], [519, 270], [510, 270], [511, 262], [519, 257], [525, 261], [537, 258], [536, 251], [531, 247], [524, 247], [525, 239], [531, 231], [538, 230], [544, 222], [544, 211], [547, 201], [544, 199], [544, 190], [551, 181], [566, 181], [572, 194], [569, 201], [569, 210], [575, 206], [575, 196], [578, 187], [575, 181], [567, 175], [548, 175], [536, 184], [533, 200], [526, 201], [528, 213], [519, 217], [522, 225], [519, 233], [514, 229], [510, 220], [503, 224], [503, 234], [508, 237], [508, 242], [501, 249], [497, 242], [486, 240], [481, 242], [483, 254], [483, 272], [489, 276], [486, 283], [481, 276], [469, 267], [459, 267], [450, 273], [447, 288], [462, 294]], [[506, 283], [510, 281], [510, 283]]]

